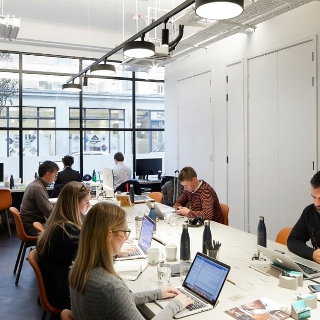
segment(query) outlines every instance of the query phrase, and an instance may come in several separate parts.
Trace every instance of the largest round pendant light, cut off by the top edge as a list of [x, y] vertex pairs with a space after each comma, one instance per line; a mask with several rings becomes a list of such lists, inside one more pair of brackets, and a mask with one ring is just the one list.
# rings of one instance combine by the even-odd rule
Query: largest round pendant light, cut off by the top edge
[[231, 19], [243, 12], [243, 0], [196, 0], [196, 14], [211, 20]]

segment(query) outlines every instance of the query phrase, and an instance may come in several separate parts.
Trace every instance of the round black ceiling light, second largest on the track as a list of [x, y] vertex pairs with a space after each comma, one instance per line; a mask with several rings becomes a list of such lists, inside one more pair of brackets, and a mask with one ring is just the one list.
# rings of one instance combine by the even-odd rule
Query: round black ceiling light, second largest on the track
[[123, 54], [131, 58], [147, 58], [155, 54], [155, 45], [145, 41], [145, 34], [141, 36], [141, 41], [129, 41], [123, 44]]

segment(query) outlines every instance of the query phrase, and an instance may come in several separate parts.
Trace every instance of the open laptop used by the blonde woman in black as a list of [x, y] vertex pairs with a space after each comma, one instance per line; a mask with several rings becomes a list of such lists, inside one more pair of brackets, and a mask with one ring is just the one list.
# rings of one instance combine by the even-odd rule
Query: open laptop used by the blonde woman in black
[[155, 222], [144, 215], [138, 244], [133, 244], [136, 251], [128, 254], [127, 257], [117, 258], [117, 260], [132, 260], [147, 258], [147, 250], [150, 248]]

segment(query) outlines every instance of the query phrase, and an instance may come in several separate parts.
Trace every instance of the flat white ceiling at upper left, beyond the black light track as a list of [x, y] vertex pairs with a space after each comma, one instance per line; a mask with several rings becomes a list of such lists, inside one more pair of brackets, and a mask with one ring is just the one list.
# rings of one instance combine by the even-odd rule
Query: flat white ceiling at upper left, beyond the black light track
[[[22, 19], [42, 20], [59, 24], [70, 24], [90, 28], [136, 32], [136, 22], [132, 15], [147, 16], [148, 7], [169, 9], [178, 6], [184, 0], [3, 0], [4, 14], [15, 15]], [[0, 4], [1, 5], [1, 4]], [[123, 10], [124, 5], [124, 10]], [[154, 12], [154, 11], [153, 11]], [[165, 12], [158, 12], [157, 18]], [[138, 29], [146, 27], [140, 18]]]

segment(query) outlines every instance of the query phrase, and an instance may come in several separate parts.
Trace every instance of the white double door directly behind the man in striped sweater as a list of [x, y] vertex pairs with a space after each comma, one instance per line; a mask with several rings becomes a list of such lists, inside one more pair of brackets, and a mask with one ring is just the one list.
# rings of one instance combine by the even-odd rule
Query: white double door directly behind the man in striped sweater
[[213, 184], [211, 72], [178, 81], [178, 167]]

